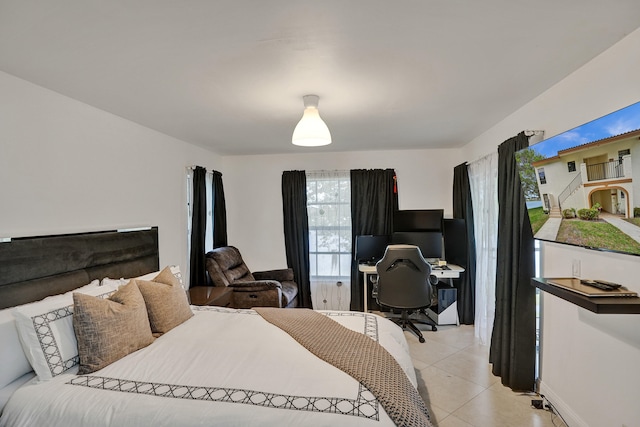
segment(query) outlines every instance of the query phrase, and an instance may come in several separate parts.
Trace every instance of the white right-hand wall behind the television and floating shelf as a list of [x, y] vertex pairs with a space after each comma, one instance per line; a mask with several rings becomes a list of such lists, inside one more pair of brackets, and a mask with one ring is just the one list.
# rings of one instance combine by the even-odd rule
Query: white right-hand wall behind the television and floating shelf
[[[550, 137], [640, 101], [640, 30], [465, 147], [469, 159], [524, 129]], [[640, 292], [640, 258], [543, 245], [542, 275], [607, 278]], [[595, 315], [543, 295], [541, 391], [573, 426], [640, 426], [640, 315]]]

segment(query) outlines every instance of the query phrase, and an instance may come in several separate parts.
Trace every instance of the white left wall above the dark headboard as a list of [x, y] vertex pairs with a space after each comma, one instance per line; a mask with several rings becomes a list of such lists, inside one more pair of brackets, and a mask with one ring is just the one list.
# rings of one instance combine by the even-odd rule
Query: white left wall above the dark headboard
[[2, 72], [0, 94], [0, 237], [153, 225], [186, 266], [185, 167], [218, 156]]

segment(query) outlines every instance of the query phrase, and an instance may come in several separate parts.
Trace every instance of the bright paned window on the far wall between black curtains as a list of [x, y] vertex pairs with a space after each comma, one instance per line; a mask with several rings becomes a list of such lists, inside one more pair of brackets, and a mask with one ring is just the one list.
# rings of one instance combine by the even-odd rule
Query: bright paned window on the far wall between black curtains
[[349, 172], [308, 172], [311, 281], [351, 276], [351, 181]]

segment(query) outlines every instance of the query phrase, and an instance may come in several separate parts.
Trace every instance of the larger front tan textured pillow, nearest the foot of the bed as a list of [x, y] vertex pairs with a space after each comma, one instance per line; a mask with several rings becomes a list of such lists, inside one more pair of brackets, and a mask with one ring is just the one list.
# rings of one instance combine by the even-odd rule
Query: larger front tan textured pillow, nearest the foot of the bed
[[147, 309], [135, 281], [107, 299], [73, 294], [79, 374], [89, 374], [153, 342]]

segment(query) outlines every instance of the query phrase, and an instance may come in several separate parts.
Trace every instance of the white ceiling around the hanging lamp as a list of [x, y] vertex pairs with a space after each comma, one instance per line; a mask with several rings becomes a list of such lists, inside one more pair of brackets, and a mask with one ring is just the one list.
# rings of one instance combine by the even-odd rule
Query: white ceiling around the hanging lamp
[[[0, 70], [222, 155], [461, 147], [638, 0], [0, 0]], [[291, 144], [302, 96], [333, 144]]]

